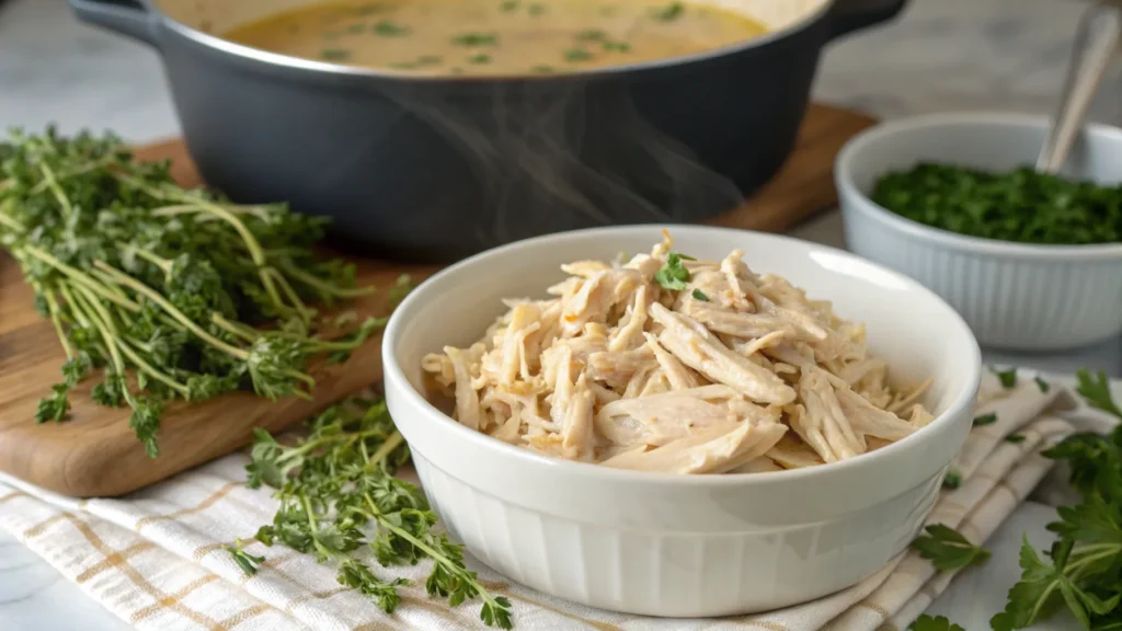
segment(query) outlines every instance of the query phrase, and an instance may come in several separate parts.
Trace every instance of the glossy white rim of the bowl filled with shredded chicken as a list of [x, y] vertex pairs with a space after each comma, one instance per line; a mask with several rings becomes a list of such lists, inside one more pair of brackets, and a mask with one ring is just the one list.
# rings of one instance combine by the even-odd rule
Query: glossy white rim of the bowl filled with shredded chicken
[[[473, 441], [473, 445], [488, 449], [490, 452], [495, 454], [497, 457], [513, 458], [528, 466], [537, 467], [552, 467], [558, 473], [563, 473], [564, 475], [577, 475], [581, 477], [594, 477], [605, 481], [616, 481], [622, 483], [647, 483], [647, 484], [662, 484], [671, 486], [700, 486], [700, 487], [725, 487], [725, 486], [736, 486], [742, 484], [749, 484], [756, 486], [767, 486], [774, 484], [788, 484], [794, 481], [808, 481], [815, 479], [820, 476], [837, 474], [844, 470], [849, 470], [850, 474], [856, 473], [859, 469], [868, 469], [871, 467], [876, 467], [879, 463], [886, 459], [891, 459], [898, 456], [902, 451], [911, 450], [918, 448], [918, 446], [926, 439], [926, 437], [934, 436], [936, 432], [946, 429], [946, 427], [955, 421], [955, 419], [962, 414], [969, 414], [971, 409], [974, 405], [975, 399], [977, 396], [977, 388], [982, 377], [982, 351], [978, 347], [977, 340], [971, 328], [966, 324], [965, 320], [951, 308], [942, 298], [932, 292], [931, 290], [925, 287], [917, 281], [894, 272], [886, 267], [883, 267], [876, 263], [866, 260], [853, 253], [845, 252], [830, 246], [825, 246], [816, 244], [812, 241], [807, 241], [803, 239], [797, 239], [794, 237], [789, 237], [785, 235], [776, 235], [771, 232], [760, 232], [755, 230], [739, 230], [735, 228], [724, 228], [724, 227], [710, 227], [710, 226], [690, 226], [690, 225], [678, 225], [678, 226], [661, 226], [671, 231], [677, 231], [679, 235], [682, 232], [692, 232], [698, 237], [703, 237], [706, 234], [709, 235], [730, 235], [730, 234], [748, 234], [756, 238], [773, 239], [779, 241], [785, 241], [790, 244], [799, 245], [800, 247], [809, 247], [811, 252], [826, 252], [831, 255], [842, 256], [848, 260], [857, 260], [863, 265], [870, 265], [875, 267], [880, 273], [883, 273], [893, 278], [893, 282], [903, 284], [908, 291], [919, 292], [927, 295], [936, 305], [941, 305], [945, 311], [945, 316], [948, 317], [948, 326], [957, 328], [959, 333], [969, 342], [968, 348], [964, 349], [967, 355], [969, 355], [966, 366], [967, 371], [972, 374], [967, 376], [966, 383], [974, 384], [973, 386], [967, 385], [965, 390], [958, 392], [955, 399], [950, 402], [947, 409], [938, 414], [935, 420], [932, 420], [927, 426], [920, 428], [914, 433], [898, 440], [891, 445], [882, 447], [875, 451], [862, 454], [858, 457], [854, 457], [847, 460], [842, 460], [838, 463], [826, 463], [815, 467], [803, 467], [798, 469], [784, 469], [780, 472], [769, 472], [766, 475], [758, 475], [752, 473], [744, 474], [720, 474], [720, 475], [680, 475], [680, 474], [669, 474], [669, 473], [654, 473], [654, 472], [636, 472], [629, 469], [617, 469], [613, 467], [605, 467], [599, 464], [594, 463], [580, 463], [573, 460], [565, 460], [562, 458], [553, 458], [550, 456], [544, 456], [536, 454], [528, 449], [516, 447], [497, 440], [487, 435], [480, 433], [478, 431], [472, 431], [462, 424], [460, 424], [456, 419], [441, 412], [436, 406], [427, 401], [424, 395], [417, 391], [405, 377], [402, 366], [397, 362], [396, 355], [396, 342], [401, 337], [402, 329], [407, 326], [405, 322], [406, 314], [413, 310], [419, 309], [419, 303], [424, 301], [426, 287], [431, 289], [435, 286], [441, 280], [449, 276], [453, 276], [462, 273], [465, 269], [469, 269], [472, 266], [479, 265], [487, 258], [490, 258], [498, 254], [511, 254], [519, 250], [532, 250], [535, 246], [545, 241], [571, 241], [579, 240], [589, 236], [603, 236], [613, 234], [626, 234], [637, 230], [651, 230], [659, 228], [660, 225], [638, 225], [638, 226], [615, 226], [607, 228], [587, 228], [582, 230], [570, 230], [564, 232], [557, 232], [553, 235], [545, 235], [541, 237], [534, 237], [530, 239], [524, 239], [499, 246], [497, 248], [491, 248], [484, 253], [471, 256], [463, 259], [454, 265], [451, 265], [436, 274], [426, 278], [421, 285], [414, 289], [410, 294], [402, 301], [402, 303], [394, 310], [394, 313], [389, 318], [389, 322], [386, 326], [385, 335], [383, 336], [381, 342], [381, 358], [383, 358], [383, 374], [384, 383], [386, 384], [387, 397], [393, 396], [390, 394], [392, 388], [396, 388], [405, 399], [404, 404], [411, 409], [411, 413], [416, 413], [424, 417], [422, 422], [435, 422], [435, 423], [447, 423], [450, 427], [450, 431], [456, 432], [451, 436], [461, 437], [465, 440]], [[404, 432], [403, 432], [404, 433]], [[499, 456], [500, 455], [500, 456]]]

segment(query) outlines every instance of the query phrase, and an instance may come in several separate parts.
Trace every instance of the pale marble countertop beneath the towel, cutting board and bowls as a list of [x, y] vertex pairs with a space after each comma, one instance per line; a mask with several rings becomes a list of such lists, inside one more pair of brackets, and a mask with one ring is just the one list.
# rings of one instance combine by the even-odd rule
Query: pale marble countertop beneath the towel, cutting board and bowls
[[[815, 97], [883, 118], [972, 109], [1047, 112], [1063, 81], [1082, 6], [1073, 0], [911, 0], [893, 26], [831, 46]], [[1120, 76], [1115, 67], [1091, 118], [1122, 122]], [[178, 131], [153, 51], [77, 25], [58, 0], [0, 0], [0, 126], [40, 129], [47, 124], [66, 132], [108, 128], [135, 141]], [[826, 214], [795, 234], [840, 244], [840, 221], [836, 213]], [[1116, 341], [1065, 355], [987, 356], [1056, 373], [1092, 367], [1122, 376]], [[1026, 505], [1003, 530], [1028, 531], [1040, 543], [1050, 513]], [[934, 609], [959, 616], [973, 607], [977, 615], [971, 619], [982, 622], [971, 631], [985, 628], [986, 612], [1001, 603], [978, 602], [974, 586], [1015, 579], [1015, 560], [1010, 560], [1015, 549], [1005, 552], [995, 551], [1002, 558], [1001, 564], [988, 564], [993, 569], [956, 582]], [[128, 625], [0, 534], [0, 629], [79, 628], [109, 631]], [[1075, 628], [1063, 620], [1040, 627]]]

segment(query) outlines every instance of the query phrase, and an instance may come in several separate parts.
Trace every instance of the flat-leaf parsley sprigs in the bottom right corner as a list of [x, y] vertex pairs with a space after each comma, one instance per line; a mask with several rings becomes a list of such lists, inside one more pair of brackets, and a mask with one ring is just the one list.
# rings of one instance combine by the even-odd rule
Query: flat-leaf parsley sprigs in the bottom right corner
[[[1079, 371], [1077, 391], [1122, 419], [1105, 374]], [[1086, 629], [1122, 629], [1122, 424], [1109, 436], [1069, 436], [1045, 456], [1068, 463], [1082, 501], [1057, 509], [1059, 520], [1048, 530], [1059, 539], [1045, 558], [1024, 539], [1021, 580], [991, 627], [1023, 629], [1066, 606]]]

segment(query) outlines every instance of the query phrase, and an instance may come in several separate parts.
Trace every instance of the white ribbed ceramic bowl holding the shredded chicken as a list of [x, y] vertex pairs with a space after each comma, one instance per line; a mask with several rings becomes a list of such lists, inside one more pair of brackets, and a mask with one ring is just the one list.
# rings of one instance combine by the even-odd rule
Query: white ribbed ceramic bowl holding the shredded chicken
[[677, 476], [563, 461], [471, 431], [422, 396], [421, 358], [468, 346], [509, 296], [542, 296], [562, 263], [647, 252], [659, 227], [565, 232], [500, 247], [433, 276], [397, 308], [383, 345], [389, 411], [433, 507], [504, 575], [587, 605], [662, 616], [809, 601], [873, 574], [922, 525], [972, 422], [981, 356], [966, 323], [918, 283], [795, 239], [673, 227], [674, 249], [785, 276], [867, 323], [893, 376], [931, 376], [938, 418], [894, 445], [817, 468]]

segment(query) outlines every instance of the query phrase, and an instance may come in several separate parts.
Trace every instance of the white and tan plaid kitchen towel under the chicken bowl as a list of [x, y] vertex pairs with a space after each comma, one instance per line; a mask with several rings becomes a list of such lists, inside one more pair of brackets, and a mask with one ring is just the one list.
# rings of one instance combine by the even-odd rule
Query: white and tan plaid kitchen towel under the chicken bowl
[[[1076, 408], [1073, 394], [1060, 386], [1045, 390], [1023, 376], [1005, 390], [986, 375], [977, 413], [995, 413], [997, 420], [971, 431], [951, 465], [963, 482], [941, 493], [931, 523], [947, 524], [982, 543], [1037, 486], [1050, 467], [1039, 456], [1040, 449], [1075, 429], [1068, 414]], [[1023, 440], [1005, 440], [1014, 432]], [[340, 586], [333, 568], [282, 546], [249, 546], [248, 552], [266, 561], [256, 575], [245, 575], [224, 547], [239, 538], [250, 540], [259, 525], [272, 521], [276, 509], [268, 490], [245, 487], [247, 461], [242, 454], [231, 455], [117, 500], [76, 501], [3, 478], [0, 528], [138, 629], [447, 631], [481, 627], [478, 603], [453, 609], [425, 595], [425, 564], [381, 570], [415, 580], [402, 589], [402, 605], [393, 615]], [[574, 605], [512, 584], [470, 558], [468, 564], [479, 571], [487, 589], [509, 597], [515, 625], [534, 630], [894, 630], [907, 627], [954, 578], [954, 573], [936, 571], [907, 551], [858, 585], [811, 603], [763, 614], [686, 621]]]

